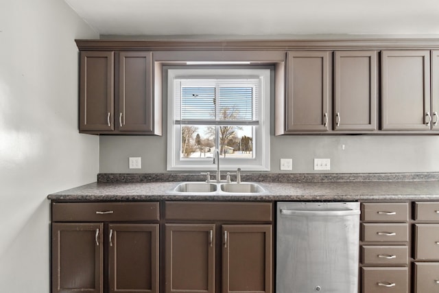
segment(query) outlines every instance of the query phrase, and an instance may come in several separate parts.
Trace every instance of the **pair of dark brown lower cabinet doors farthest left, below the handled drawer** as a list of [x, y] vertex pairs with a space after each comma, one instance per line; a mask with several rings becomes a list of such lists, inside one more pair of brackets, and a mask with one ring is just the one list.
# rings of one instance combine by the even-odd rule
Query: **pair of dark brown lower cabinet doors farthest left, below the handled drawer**
[[106, 225], [52, 223], [53, 293], [158, 293], [158, 224]]

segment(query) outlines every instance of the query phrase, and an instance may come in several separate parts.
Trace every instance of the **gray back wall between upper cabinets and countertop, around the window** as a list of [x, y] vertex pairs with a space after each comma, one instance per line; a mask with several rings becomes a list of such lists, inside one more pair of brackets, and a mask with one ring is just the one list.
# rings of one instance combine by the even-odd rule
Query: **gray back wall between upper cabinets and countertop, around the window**
[[[274, 133], [273, 103], [271, 108]], [[163, 137], [101, 136], [99, 172], [166, 172], [166, 101], [163, 109]], [[323, 173], [439, 172], [438, 149], [438, 135], [272, 135], [270, 172], [285, 172], [281, 158], [293, 159], [287, 173], [317, 173], [314, 158], [331, 159], [331, 171]], [[141, 156], [142, 169], [128, 169], [129, 156]]]

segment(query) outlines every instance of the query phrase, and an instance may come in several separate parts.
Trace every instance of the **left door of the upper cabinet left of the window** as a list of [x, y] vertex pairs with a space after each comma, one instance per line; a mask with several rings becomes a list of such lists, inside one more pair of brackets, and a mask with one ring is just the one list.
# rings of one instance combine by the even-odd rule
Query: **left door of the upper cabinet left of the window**
[[80, 53], [80, 130], [114, 130], [113, 52]]

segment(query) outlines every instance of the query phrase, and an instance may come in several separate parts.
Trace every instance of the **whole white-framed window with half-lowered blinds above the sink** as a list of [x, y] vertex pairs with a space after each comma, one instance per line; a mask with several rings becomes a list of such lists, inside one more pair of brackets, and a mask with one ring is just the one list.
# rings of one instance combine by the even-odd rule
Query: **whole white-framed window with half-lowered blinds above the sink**
[[268, 67], [165, 67], [168, 170], [270, 169]]

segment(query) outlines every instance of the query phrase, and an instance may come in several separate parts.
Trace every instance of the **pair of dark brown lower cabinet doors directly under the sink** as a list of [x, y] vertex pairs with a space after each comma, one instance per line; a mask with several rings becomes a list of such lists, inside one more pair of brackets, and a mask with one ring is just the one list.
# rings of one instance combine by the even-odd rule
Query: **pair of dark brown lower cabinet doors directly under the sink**
[[272, 225], [166, 224], [165, 259], [167, 293], [213, 293], [217, 274], [223, 293], [271, 293]]

